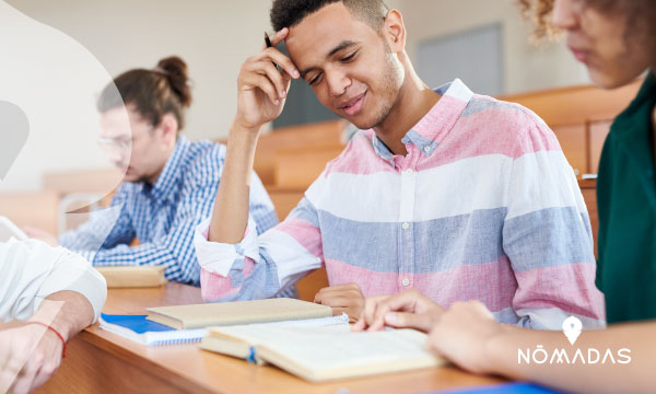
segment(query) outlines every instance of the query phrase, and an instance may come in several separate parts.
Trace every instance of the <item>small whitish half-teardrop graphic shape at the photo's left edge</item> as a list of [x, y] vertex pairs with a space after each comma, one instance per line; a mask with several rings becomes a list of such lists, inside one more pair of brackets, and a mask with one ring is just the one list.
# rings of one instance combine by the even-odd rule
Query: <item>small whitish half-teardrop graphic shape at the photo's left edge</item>
[[0, 181], [27, 142], [30, 123], [27, 115], [13, 103], [0, 100]]

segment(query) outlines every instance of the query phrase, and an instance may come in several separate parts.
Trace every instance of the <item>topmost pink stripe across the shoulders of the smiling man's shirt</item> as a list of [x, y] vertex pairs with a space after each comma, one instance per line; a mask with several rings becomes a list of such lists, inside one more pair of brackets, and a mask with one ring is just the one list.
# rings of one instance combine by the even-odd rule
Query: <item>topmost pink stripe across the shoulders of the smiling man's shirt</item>
[[[493, 99], [480, 96], [479, 100]], [[512, 108], [518, 105], [505, 103], [508, 109], [493, 107], [458, 117], [465, 104], [457, 99], [443, 96], [435, 108], [413, 128], [423, 137], [438, 142], [434, 154], [419, 160], [418, 171], [485, 154], [517, 159], [527, 153], [561, 150], [555, 135], [536, 115]], [[373, 131], [367, 130], [353, 139], [339, 158], [328, 164], [326, 175], [332, 172], [367, 175], [394, 171], [375, 154], [372, 138]], [[412, 151], [414, 149], [411, 148]]]

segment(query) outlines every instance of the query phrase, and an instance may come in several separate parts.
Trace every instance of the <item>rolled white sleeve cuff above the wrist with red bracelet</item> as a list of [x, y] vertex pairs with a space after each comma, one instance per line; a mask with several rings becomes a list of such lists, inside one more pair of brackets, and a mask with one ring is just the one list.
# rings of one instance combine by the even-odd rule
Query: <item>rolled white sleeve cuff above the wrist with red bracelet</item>
[[82, 256], [61, 248], [56, 268], [39, 288], [34, 312], [46, 297], [59, 291], [74, 291], [82, 294], [93, 306], [95, 323], [107, 299], [105, 278]]

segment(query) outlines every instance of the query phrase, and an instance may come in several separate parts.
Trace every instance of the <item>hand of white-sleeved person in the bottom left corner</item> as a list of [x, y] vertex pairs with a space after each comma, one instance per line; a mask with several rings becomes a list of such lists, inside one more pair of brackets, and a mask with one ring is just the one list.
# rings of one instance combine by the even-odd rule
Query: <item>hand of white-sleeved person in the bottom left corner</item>
[[61, 340], [39, 325], [0, 331], [0, 392], [27, 393], [50, 379], [61, 363]]

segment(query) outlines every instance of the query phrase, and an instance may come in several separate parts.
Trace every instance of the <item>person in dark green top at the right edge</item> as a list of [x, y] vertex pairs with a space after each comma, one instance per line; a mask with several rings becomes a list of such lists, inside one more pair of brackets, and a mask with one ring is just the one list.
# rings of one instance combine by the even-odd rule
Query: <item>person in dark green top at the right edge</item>
[[[430, 332], [429, 347], [460, 368], [528, 380], [564, 391], [654, 392], [656, 363], [656, 3], [654, 0], [520, 0], [537, 37], [566, 34], [566, 45], [591, 81], [625, 85], [646, 71], [637, 96], [607, 137], [597, 183], [597, 286], [606, 294], [607, 329], [577, 341], [560, 332], [499, 324], [479, 302], [443, 311], [415, 290], [366, 300], [355, 331], [384, 325]], [[632, 322], [632, 323], [626, 323]], [[565, 332], [566, 334], [566, 332]], [[576, 338], [574, 338], [576, 340]], [[540, 349], [555, 362], [520, 362], [519, 349]], [[569, 361], [559, 351], [569, 352]], [[590, 361], [590, 349], [604, 359]], [[606, 350], [618, 355], [608, 360]], [[577, 350], [584, 362], [572, 364]], [[628, 351], [626, 351], [628, 350]], [[575, 357], [575, 356], [574, 356]]]

